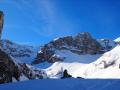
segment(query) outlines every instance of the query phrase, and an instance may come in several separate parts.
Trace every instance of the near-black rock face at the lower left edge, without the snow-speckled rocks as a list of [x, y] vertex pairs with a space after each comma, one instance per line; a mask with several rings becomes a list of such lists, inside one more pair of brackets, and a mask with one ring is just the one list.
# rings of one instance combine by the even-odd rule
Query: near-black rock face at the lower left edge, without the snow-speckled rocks
[[0, 49], [0, 83], [12, 82], [13, 77], [19, 80], [19, 68], [10, 56]]

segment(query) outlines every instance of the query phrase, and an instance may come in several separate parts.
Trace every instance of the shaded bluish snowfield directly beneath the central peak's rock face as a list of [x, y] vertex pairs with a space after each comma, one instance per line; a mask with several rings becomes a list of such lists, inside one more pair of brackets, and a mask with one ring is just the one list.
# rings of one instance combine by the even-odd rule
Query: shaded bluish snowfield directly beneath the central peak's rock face
[[55, 52], [55, 55], [65, 58], [64, 62], [80, 62], [80, 63], [91, 63], [95, 60], [97, 60], [101, 54], [96, 54], [96, 55], [90, 55], [90, 54], [83, 54], [83, 55], [78, 55], [76, 53], [72, 53], [69, 50], [57, 50]]

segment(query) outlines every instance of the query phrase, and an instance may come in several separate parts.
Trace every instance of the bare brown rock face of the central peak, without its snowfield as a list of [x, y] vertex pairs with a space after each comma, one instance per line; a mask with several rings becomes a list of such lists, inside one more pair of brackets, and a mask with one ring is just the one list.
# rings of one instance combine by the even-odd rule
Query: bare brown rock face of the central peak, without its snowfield
[[63, 61], [64, 58], [55, 56], [56, 50], [69, 50], [73, 53], [83, 54], [96, 54], [99, 53], [102, 46], [88, 33], [79, 33], [76, 36], [67, 36], [56, 39], [48, 44], [45, 44], [41, 51], [38, 53], [36, 60], [32, 64], [40, 62], [56, 62]]

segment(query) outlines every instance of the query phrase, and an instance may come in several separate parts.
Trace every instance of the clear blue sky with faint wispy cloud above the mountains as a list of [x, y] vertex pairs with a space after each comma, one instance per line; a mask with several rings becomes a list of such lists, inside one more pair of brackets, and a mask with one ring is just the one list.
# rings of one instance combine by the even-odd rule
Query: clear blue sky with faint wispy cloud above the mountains
[[0, 0], [3, 39], [41, 45], [90, 32], [95, 38], [120, 36], [120, 0]]

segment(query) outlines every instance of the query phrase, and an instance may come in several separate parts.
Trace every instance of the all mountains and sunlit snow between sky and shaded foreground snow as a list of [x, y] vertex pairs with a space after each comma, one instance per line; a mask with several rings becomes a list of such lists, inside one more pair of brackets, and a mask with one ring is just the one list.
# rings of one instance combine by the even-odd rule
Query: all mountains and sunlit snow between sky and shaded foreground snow
[[[120, 78], [119, 53], [120, 46], [116, 41], [94, 39], [86, 32], [55, 39], [45, 44], [40, 51], [37, 47], [2, 40], [0, 54], [3, 56], [0, 61], [6, 67], [2, 68], [0, 64], [0, 68], [2, 71], [7, 69], [8, 73], [12, 74], [9, 76], [8, 73], [1, 72], [0, 74], [8, 77], [10, 81], [3, 80], [3, 76], [1, 80], [5, 83], [43, 78], [58, 79], [66, 76], [65, 71], [68, 77], [74, 78]], [[28, 65], [31, 62], [33, 66]], [[11, 63], [12, 66], [9, 66]]]

